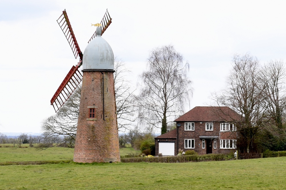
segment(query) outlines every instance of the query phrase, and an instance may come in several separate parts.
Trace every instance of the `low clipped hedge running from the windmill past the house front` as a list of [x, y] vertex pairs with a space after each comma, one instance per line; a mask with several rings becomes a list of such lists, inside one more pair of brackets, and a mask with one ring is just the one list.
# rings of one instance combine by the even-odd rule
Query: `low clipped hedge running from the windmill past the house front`
[[233, 154], [204, 154], [204, 155], [186, 155], [186, 156], [158, 156], [158, 157], [135, 157], [121, 158], [121, 162], [164, 162], [164, 163], [182, 163], [182, 162], [204, 162], [204, 161], [223, 161], [233, 159]]

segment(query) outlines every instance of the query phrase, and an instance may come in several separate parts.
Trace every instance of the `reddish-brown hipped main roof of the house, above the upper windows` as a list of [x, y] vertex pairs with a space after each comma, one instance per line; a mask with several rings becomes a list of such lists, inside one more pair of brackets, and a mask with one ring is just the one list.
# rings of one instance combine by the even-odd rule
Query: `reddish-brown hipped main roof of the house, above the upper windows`
[[175, 121], [241, 121], [243, 118], [229, 107], [197, 106]]

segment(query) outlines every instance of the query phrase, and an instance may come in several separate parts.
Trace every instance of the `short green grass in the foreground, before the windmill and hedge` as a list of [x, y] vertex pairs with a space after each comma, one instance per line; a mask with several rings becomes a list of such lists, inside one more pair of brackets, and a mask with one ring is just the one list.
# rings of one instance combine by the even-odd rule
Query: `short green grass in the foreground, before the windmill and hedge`
[[0, 189], [286, 189], [286, 157], [0, 166]]

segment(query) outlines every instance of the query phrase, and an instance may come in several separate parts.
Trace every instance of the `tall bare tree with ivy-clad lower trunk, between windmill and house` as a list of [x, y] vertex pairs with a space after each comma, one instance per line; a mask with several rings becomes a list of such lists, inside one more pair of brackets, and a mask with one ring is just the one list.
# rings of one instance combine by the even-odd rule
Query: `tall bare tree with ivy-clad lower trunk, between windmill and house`
[[136, 97], [139, 123], [161, 128], [164, 134], [167, 124], [184, 113], [184, 105], [192, 95], [189, 64], [171, 45], [152, 50], [147, 61], [147, 71], [139, 76], [141, 89]]

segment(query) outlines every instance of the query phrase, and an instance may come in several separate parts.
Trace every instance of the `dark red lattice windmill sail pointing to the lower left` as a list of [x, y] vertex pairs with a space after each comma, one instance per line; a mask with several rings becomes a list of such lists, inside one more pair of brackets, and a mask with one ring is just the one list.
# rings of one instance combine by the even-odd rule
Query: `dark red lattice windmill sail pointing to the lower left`
[[76, 66], [72, 66], [71, 70], [67, 73], [67, 76], [63, 79], [63, 82], [59, 85], [59, 88], [53, 95], [51, 105], [53, 105], [56, 112], [65, 103], [65, 101], [67, 101], [82, 81], [82, 73], [78, 70], [81, 64], [82, 61], [80, 61]]

